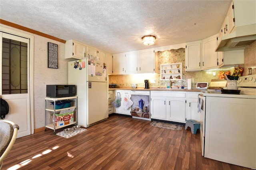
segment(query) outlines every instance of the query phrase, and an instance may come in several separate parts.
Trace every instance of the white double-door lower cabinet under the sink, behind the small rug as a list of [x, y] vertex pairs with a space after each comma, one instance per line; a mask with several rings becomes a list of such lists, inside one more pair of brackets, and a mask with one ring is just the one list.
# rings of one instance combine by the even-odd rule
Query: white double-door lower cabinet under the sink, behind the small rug
[[186, 92], [150, 92], [152, 119], [186, 123]]

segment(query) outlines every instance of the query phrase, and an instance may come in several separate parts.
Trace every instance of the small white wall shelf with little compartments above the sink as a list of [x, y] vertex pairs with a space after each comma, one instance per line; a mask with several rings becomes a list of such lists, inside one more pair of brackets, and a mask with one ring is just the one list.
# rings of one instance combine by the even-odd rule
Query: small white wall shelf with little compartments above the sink
[[160, 77], [160, 80], [181, 80], [182, 63], [161, 64]]

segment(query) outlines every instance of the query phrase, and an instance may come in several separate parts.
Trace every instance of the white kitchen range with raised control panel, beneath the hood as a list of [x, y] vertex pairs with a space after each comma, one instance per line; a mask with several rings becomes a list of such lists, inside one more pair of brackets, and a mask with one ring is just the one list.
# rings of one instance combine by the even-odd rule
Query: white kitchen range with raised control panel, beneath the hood
[[240, 77], [238, 95], [204, 91], [198, 96], [204, 157], [256, 168], [255, 80], [256, 75]]

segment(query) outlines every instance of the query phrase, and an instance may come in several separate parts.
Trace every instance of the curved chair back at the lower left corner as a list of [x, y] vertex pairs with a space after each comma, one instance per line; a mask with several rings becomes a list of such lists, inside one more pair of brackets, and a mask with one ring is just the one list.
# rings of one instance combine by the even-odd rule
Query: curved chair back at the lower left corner
[[19, 126], [11, 121], [0, 121], [0, 169], [4, 158], [10, 152], [19, 130]]

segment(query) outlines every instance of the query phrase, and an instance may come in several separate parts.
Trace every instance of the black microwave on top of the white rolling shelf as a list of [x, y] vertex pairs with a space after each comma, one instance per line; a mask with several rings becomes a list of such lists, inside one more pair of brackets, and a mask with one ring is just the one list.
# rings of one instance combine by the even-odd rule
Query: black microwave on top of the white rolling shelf
[[46, 97], [71, 97], [76, 95], [76, 85], [46, 85]]

